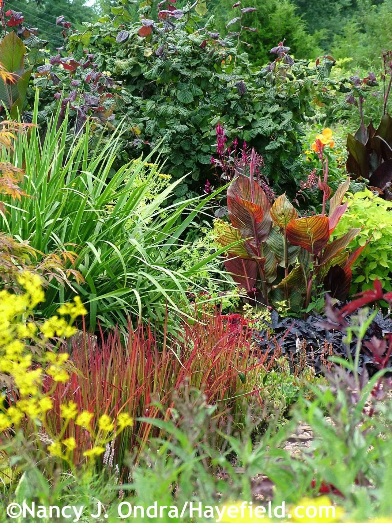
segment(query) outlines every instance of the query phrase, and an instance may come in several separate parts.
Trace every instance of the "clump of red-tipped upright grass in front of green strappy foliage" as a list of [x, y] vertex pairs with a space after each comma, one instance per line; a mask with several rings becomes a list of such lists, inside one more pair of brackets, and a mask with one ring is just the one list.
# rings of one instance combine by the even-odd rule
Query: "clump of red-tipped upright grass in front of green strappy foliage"
[[[98, 339], [84, 334], [72, 341], [71, 360], [75, 366], [71, 381], [60, 384], [53, 397], [54, 407], [48, 423], [60, 432], [60, 405], [74, 401], [79, 411], [116, 416], [126, 412], [138, 417], [171, 416], [172, 393], [184, 387], [194, 388], [216, 405], [215, 415], [224, 424], [227, 415], [234, 425], [243, 423], [252, 396], [260, 401], [252, 383], [268, 355], [262, 355], [252, 340], [248, 322], [237, 315], [222, 316], [203, 312], [199, 321], [183, 320], [176, 339], [158, 333], [150, 325], [132, 329], [126, 343], [112, 331]], [[47, 390], [52, 383], [48, 380]], [[87, 431], [70, 423], [64, 437], [74, 436], [78, 443], [74, 462], [90, 445]], [[159, 431], [147, 423], [135, 421], [116, 441], [116, 463], [123, 463], [129, 451], [140, 451]]]

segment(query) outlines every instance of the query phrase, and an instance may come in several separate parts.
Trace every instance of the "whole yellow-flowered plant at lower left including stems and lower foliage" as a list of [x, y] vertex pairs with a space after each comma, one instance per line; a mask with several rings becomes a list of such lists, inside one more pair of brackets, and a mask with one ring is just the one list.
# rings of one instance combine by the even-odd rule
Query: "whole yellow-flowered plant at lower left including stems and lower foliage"
[[[64, 436], [71, 420], [90, 436], [87, 444], [83, 442], [80, 462], [94, 461], [105, 451], [106, 443], [113, 436], [132, 425], [132, 419], [124, 410], [115, 420], [101, 415], [98, 430], [93, 432], [90, 422], [94, 413], [88, 410], [91, 406], [80, 411], [78, 405], [70, 401], [61, 405], [59, 431], [50, 430], [47, 416], [53, 408], [52, 395], [57, 386], [70, 380], [73, 372], [68, 354], [56, 353], [50, 339], [61, 340], [76, 334], [73, 324], [87, 311], [76, 296], [73, 302], [62, 304], [57, 314], [38, 323], [34, 321], [33, 311], [44, 301], [41, 278], [24, 271], [18, 276], [18, 283], [24, 292], [0, 291], [0, 372], [2, 381], [7, 384], [0, 405], [0, 441], [7, 457], [2, 465], [10, 473], [5, 476], [0, 471], [0, 475], [9, 483], [14, 475], [17, 477], [22, 461], [28, 461], [27, 456], [32, 460], [42, 459], [42, 467], [48, 467], [49, 474], [54, 466], [65, 464], [73, 468], [73, 454], [82, 442]], [[51, 379], [52, 388], [44, 391], [47, 379]], [[18, 453], [22, 461], [15, 460]], [[15, 466], [15, 463], [18, 464]]]

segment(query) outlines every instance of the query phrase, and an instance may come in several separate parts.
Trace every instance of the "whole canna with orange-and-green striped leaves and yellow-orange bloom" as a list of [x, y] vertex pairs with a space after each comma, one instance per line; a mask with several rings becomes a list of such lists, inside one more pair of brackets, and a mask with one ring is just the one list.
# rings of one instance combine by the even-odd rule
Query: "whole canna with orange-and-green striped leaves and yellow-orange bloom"
[[[248, 298], [258, 303], [269, 305], [270, 297], [272, 301], [281, 299], [283, 292], [284, 300], [290, 300], [292, 308], [295, 303], [304, 305], [306, 314], [310, 310], [312, 290], [320, 284], [332, 297], [347, 298], [351, 266], [363, 247], [351, 255], [345, 251], [359, 234], [359, 228], [352, 228], [330, 242], [333, 230], [347, 209], [347, 203], [342, 202], [350, 179], [340, 184], [330, 198], [328, 161], [324, 157], [326, 145], [333, 146], [329, 129], [317, 135], [313, 144], [323, 172], [323, 178], [318, 180], [318, 187], [324, 193], [319, 215], [299, 217], [285, 194], [276, 198], [271, 206], [253, 178], [254, 150], [249, 177], [238, 174], [227, 189], [230, 223], [218, 223], [218, 241], [223, 246], [232, 244], [228, 247], [226, 269], [238, 287], [245, 289]], [[235, 241], [238, 243], [233, 246]]]

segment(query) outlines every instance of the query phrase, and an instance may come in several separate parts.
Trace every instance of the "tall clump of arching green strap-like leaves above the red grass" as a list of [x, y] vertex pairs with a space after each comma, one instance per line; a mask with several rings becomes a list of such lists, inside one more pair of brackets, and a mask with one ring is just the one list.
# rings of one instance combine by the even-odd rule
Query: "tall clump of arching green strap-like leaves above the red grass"
[[[35, 109], [34, 123], [38, 102]], [[60, 122], [57, 112], [42, 141], [35, 126], [16, 137], [14, 151], [2, 151], [4, 162], [24, 171], [19, 187], [25, 196], [4, 196], [0, 230], [28, 241], [38, 260], [59, 249], [68, 252], [64, 270], [79, 275], [65, 286], [50, 281], [42, 314], [53, 314], [75, 293], [88, 308], [92, 329], [98, 320], [126, 325], [128, 315], [163, 320], [166, 306], [177, 313], [189, 310], [186, 290], [200, 290], [195, 275], [201, 270], [219, 272], [214, 260], [224, 249], [183, 266], [181, 236], [213, 195], [169, 205], [166, 200], [181, 180], [167, 184], [157, 166], [147, 165], [148, 157], [113, 168], [121, 131], [91, 151], [93, 124], [87, 123], [70, 146], [67, 125], [67, 114]], [[161, 190], [152, 197], [154, 184]]]

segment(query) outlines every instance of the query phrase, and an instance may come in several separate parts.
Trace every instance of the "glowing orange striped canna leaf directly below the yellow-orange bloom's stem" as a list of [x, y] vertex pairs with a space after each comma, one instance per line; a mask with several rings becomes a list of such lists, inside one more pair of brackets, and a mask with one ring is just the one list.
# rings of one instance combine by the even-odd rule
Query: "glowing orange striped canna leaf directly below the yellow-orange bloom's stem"
[[299, 245], [311, 254], [317, 254], [329, 240], [329, 220], [326, 216], [297, 218], [287, 225], [287, 240]]

